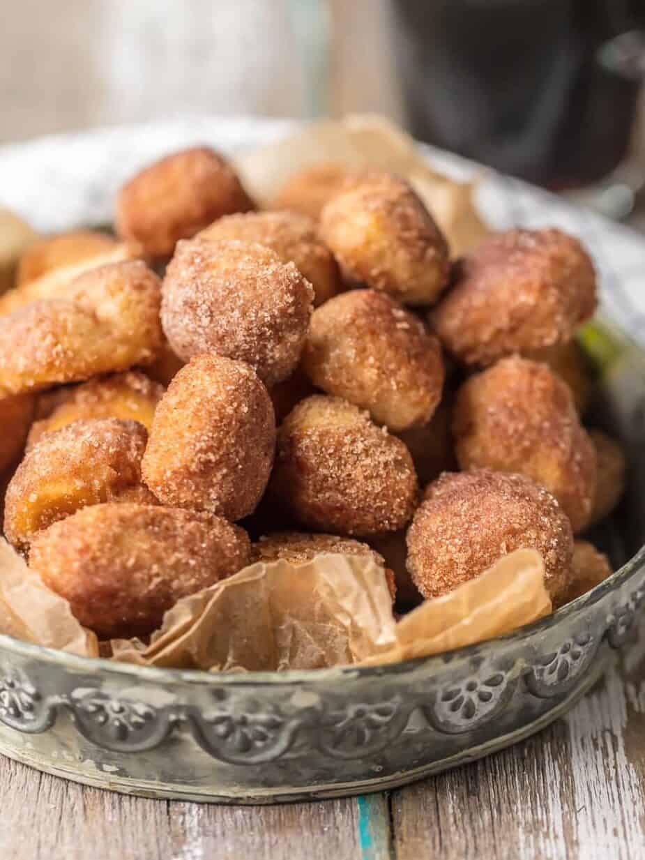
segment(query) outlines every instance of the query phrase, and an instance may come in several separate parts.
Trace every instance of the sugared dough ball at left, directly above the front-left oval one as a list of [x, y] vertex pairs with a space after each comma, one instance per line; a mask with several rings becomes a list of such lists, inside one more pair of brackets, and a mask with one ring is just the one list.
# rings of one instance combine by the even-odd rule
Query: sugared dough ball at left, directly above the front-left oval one
[[115, 418], [75, 421], [47, 433], [9, 483], [4, 510], [9, 541], [26, 546], [57, 519], [138, 487], [146, 439], [136, 421]]

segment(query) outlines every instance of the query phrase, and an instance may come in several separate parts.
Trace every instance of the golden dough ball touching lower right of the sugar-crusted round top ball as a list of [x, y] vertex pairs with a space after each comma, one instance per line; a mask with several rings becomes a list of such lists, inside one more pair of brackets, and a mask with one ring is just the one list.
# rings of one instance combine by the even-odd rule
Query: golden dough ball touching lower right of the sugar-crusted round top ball
[[394, 431], [430, 420], [445, 376], [436, 337], [375, 290], [345, 292], [314, 311], [302, 367], [318, 388]]

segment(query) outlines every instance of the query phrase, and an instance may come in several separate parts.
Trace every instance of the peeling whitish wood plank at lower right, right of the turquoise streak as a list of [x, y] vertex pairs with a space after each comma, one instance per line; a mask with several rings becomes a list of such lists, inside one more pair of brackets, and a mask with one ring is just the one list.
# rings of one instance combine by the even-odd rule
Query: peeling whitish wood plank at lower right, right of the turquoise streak
[[645, 856], [642, 657], [536, 737], [396, 791], [396, 860]]

